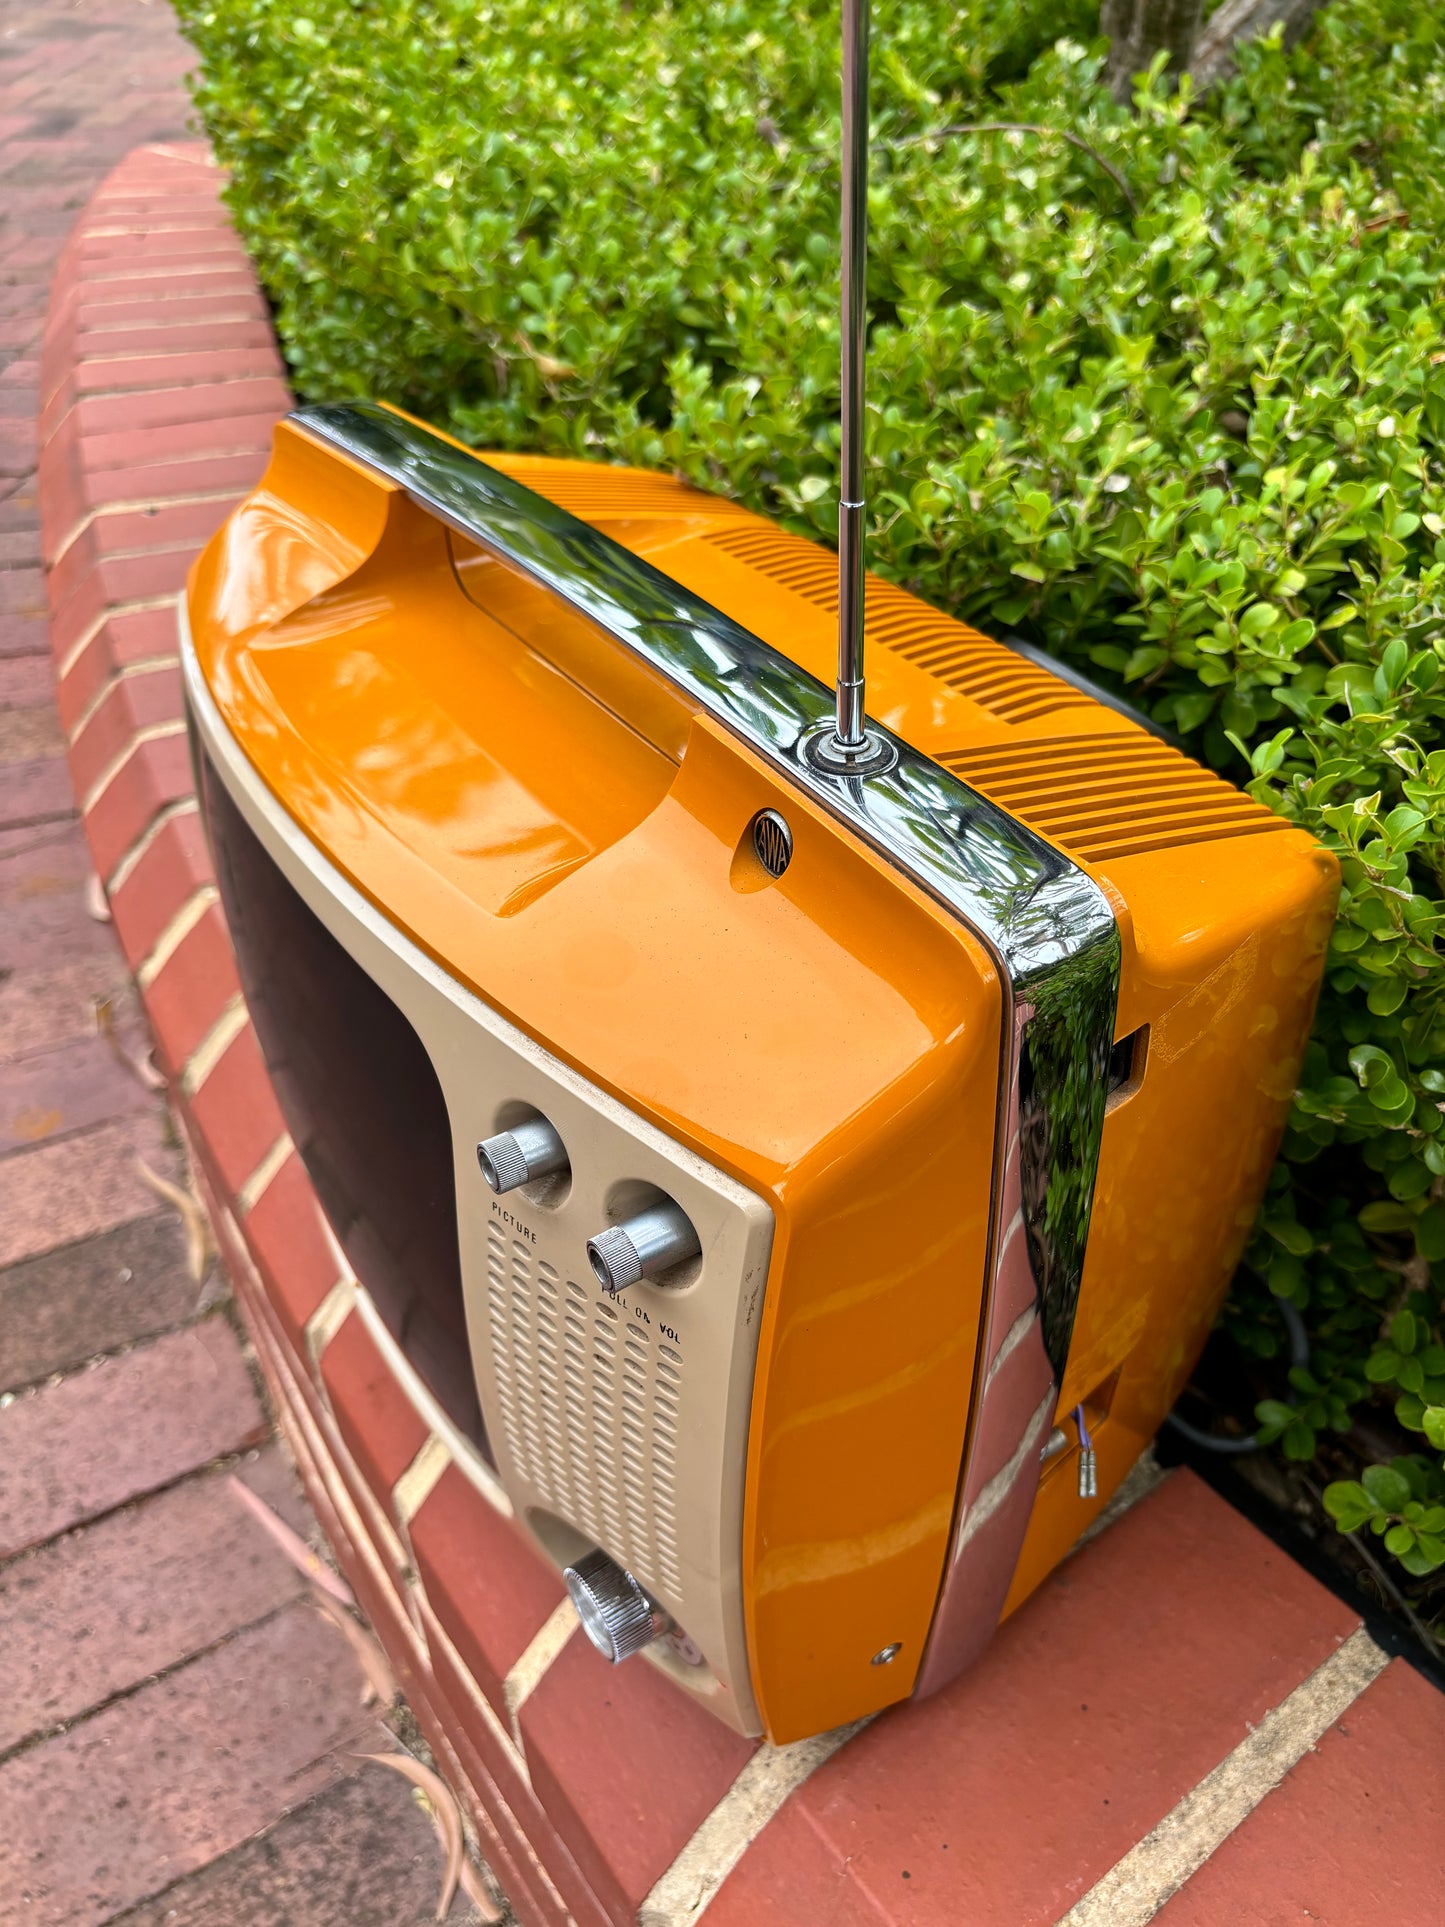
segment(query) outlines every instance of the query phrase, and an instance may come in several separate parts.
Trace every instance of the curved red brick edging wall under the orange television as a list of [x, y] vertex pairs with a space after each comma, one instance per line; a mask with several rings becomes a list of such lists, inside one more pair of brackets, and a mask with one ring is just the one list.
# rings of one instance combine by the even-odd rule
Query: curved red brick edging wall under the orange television
[[[1445, 1742], [1445, 1702], [1399, 1663], [1370, 1684], [1383, 1661], [1356, 1617], [1189, 1474], [1075, 1557], [936, 1700], [848, 1744], [775, 1750], [647, 1665], [605, 1667], [551, 1569], [428, 1438], [285, 1135], [191, 794], [173, 599], [287, 405], [206, 148], [135, 152], [71, 235], [42, 358], [71, 775], [310, 1497], [518, 1917], [686, 1927], [711, 1898], [707, 1927], [1046, 1927], [1065, 1914], [1121, 1927], [1204, 1860], [1220, 1892], [1237, 1863], [1258, 1900], [1252, 1869], [1270, 1865], [1270, 1815], [1295, 1775], [1258, 1802], [1326, 1729], [1324, 1792], [1300, 1769], [1295, 1804], [1320, 1825], [1343, 1786], [1345, 1833], [1360, 1763], [1358, 1746], [1341, 1754], [1339, 1711], [1358, 1700], [1385, 1754], [1405, 1723], [1420, 1759], [1426, 1732]], [[1401, 1696], [1408, 1719], [1389, 1711]], [[1208, 1792], [1218, 1773], [1233, 1806]], [[1445, 1806], [1445, 1781], [1426, 1800]], [[1372, 1904], [1385, 1860], [1408, 1863], [1406, 1840], [1437, 1831], [1420, 1811], [1356, 1856]], [[1318, 1888], [1310, 1856], [1295, 1860], [1279, 1900], [1299, 1914]], [[1331, 1871], [1335, 1908], [1351, 1877]], [[1200, 1917], [1196, 1888], [1206, 1875], [1169, 1919]]]

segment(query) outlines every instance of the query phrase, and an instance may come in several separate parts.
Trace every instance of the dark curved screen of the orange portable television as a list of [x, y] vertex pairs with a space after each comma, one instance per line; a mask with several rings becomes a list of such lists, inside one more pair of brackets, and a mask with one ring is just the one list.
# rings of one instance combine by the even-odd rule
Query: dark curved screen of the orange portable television
[[356, 1278], [453, 1424], [472, 1378], [451, 1123], [426, 1048], [297, 894], [198, 757], [216, 881], [281, 1116]]

